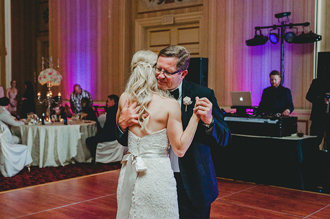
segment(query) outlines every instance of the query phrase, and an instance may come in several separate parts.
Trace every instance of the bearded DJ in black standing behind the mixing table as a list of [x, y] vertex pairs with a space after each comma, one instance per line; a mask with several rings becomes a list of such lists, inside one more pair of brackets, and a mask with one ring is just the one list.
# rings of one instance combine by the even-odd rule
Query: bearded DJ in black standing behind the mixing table
[[281, 74], [278, 71], [272, 71], [269, 76], [271, 86], [264, 89], [256, 113], [259, 115], [272, 115], [277, 113], [284, 116], [290, 115], [295, 109], [292, 103], [290, 89], [280, 84]]

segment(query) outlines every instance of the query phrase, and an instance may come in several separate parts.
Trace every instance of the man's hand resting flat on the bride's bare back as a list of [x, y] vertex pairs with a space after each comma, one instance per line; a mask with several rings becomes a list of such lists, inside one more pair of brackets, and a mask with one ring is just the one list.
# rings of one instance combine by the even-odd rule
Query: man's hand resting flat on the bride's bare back
[[[118, 125], [121, 130], [125, 131], [127, 127], [138, 124], [138, 114], [139, 106], [137, 103], [133, 103], [129, 106], [129, 100], [126, 99], [123, 110], [120, 113], [120, 117], [118, 119]], [[148, 114], [144, 114], [143, 117], [148, 116]]]

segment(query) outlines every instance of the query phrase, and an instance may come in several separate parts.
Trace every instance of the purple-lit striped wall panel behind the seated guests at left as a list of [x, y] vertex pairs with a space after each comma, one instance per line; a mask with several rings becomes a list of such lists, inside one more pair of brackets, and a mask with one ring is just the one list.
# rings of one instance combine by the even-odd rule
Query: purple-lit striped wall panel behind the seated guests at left
[[50, 0], [49, 41], [54, 66], [59, 59], [59, 87], [69, 99], [75, 84], [104, 101], [124, 86], [123, 3], [121, 1]]

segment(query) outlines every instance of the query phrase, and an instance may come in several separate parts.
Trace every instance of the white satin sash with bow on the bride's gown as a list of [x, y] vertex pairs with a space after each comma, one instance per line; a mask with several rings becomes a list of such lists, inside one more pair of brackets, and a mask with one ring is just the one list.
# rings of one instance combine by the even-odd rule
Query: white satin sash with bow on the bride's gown
[[167, 149], [151, 149], [144, 151], [138, 155], [128, 153], [124, 155], [121, 163], [126, 162], [126, 170], [122, 185], [122, 191], [119, 198], [117, 217], [116, 219], [128, 218], [131, 200], [133, 196], [134, 183], [138, 172], [146, 170], [146, 163], [143, 158], [161, 158], [167, 157]]

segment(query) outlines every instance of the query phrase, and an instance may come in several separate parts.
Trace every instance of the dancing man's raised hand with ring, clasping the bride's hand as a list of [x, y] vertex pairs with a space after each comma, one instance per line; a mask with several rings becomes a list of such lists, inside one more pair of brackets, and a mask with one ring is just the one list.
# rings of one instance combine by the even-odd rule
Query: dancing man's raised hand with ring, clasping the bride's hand
[[201, 120], [205, 124], [211, 124], [212, 122], [212, 102], [209, 101], [206, 97], [199, 99], [196, 97], [196, 103], [194, 112], [200, 116]]

